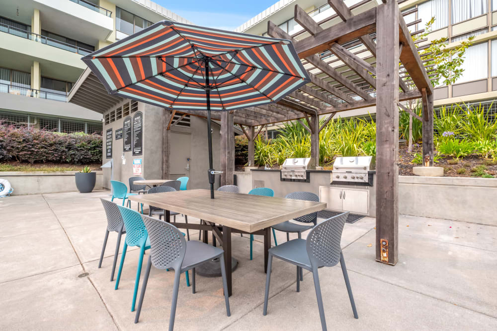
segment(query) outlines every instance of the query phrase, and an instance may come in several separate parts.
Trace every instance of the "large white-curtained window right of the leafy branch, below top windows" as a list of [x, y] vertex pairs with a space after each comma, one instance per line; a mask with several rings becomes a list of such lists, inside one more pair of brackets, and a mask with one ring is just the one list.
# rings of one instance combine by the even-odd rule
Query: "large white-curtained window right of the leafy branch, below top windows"
[[461, 66], [464, 71], [457, 83], [488, 77], [488, 43], [468, 47], [464, 57], [465, 61]]

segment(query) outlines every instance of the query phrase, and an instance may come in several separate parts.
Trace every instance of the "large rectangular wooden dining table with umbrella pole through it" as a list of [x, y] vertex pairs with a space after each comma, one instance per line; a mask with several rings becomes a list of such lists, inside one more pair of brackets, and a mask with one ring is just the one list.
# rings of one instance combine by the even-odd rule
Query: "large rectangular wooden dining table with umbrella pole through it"
[[247, 233], [264, 236], [264, 272], [267, 270], [268, 250], [271, 248], [271, 226], [326, 208], [325, 202], [314, 202], [248, 194], [186, 190], [130, 196], [130, 200], [146, 203], [165, 210], [170, 222], [170, 211], [197, 217], [205, 224], [174, 223], [178, 228], [211, 231], [223, 247], [229, 295], [232, 294], [231, 234]]

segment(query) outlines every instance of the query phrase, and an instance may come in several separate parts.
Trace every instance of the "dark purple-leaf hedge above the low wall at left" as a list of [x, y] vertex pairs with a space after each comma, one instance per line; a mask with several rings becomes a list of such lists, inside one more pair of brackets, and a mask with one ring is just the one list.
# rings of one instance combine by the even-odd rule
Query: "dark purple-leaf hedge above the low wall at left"
[[90, 164], [102, 161], [102, 136], [0, 125], [0, 161]]

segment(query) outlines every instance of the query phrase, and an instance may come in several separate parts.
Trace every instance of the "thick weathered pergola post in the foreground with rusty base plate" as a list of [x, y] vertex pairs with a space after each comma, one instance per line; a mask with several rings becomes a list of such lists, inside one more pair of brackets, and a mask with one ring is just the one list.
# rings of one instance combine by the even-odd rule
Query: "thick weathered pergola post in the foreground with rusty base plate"
[[376, 260], [398, 261], [399, 6], [384, 0], [376, 14]]

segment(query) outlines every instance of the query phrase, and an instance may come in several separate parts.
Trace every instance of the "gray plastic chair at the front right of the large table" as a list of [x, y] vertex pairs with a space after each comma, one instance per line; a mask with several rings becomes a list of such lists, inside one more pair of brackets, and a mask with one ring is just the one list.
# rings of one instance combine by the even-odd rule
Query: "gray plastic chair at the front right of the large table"
[[321, 296], [321, 287], [319, 284], [318, 268], [323, 266], [334, 266], [340, 262], [343, 278], [347, 287], [348, 298], [352, 305], [354, 318], [358, 318], [355, 309], [352, 288], [348, 280], [345, 260], [340, 247], [340, 239], [343, 231], [343, 225], [348, 216], [348, 211], [333, 216], [326, 221], [316, 225], [307, 240], [294, 239], [284, 244], [269, 249], [269, 260], [267, 262], [266, 290], [264, 294], [264, 308], [262, 314], [267, 314], [267, 299], [269, 296], [269, 280], [271, 278], [271, 265], [273, 257], [289, 262], [297, 266], [297, 292], [300, 292], [300, 269], [304, 268], [312, 272], [314, 278], [314, 287], [316, 288], [316, 297], [318, 299], [319, 317], [321, 327], [325, 331], [326, 320], [325, 310], [323, 308], [323, 298]]

